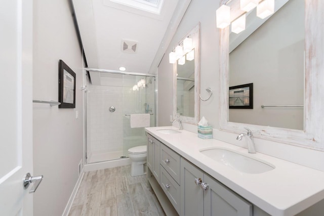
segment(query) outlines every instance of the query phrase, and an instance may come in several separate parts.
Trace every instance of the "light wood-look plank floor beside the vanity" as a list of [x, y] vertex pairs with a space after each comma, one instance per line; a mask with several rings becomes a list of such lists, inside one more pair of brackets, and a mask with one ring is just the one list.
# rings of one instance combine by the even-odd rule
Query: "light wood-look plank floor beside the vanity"
[[165, 215], [146, 176], [130, 171], [129, 165], [85, 172], [69, 216]]

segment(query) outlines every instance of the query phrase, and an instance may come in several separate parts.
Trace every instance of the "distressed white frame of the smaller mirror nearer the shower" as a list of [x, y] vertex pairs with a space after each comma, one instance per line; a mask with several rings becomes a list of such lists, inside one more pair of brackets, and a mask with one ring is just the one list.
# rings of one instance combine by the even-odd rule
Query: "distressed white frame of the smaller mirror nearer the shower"
[[[194, 47], [194, 117], [189, 116], [177, 116], [177, 64], [173, 64], [173, 119], [181, 119], [182, 122], [197, 124], [199, 121], [200, 115], [200, 99], [199, 99], [199, 90], [200, 90], [200, 23], [196, 25], [188, 34], [186, 34], [181, 41], [186, 37], [192, 37], [192, 45]], [[178, 45], [177, 44], [177, 45]]]

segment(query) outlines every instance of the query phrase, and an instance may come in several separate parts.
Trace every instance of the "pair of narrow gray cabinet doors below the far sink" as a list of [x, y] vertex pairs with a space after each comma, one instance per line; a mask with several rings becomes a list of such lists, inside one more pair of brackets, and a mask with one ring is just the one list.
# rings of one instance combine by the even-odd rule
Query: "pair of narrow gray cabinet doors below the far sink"
[[147, 167], [160, 183], [160, 142], [147, 134]]

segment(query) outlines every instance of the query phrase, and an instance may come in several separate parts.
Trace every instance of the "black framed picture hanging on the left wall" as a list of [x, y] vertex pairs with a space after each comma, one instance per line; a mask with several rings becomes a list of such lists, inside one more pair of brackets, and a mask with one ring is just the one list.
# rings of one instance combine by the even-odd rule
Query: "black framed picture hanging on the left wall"
[[59, 62], [59, 108], [75, 108], [75, 73], [62, 60]]

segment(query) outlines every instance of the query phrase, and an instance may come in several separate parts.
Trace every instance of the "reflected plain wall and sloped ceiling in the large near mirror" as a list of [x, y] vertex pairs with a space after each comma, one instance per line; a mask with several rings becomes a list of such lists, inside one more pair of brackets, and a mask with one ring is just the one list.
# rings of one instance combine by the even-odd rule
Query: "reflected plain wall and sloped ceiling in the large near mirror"
[[246, 30], [229, 35], [229, 87], [253, 83], [254, 108], [229, 109], [228, 120], [303, 130], [305, 2], [276, 10], [265, 20], [252, 11]]

